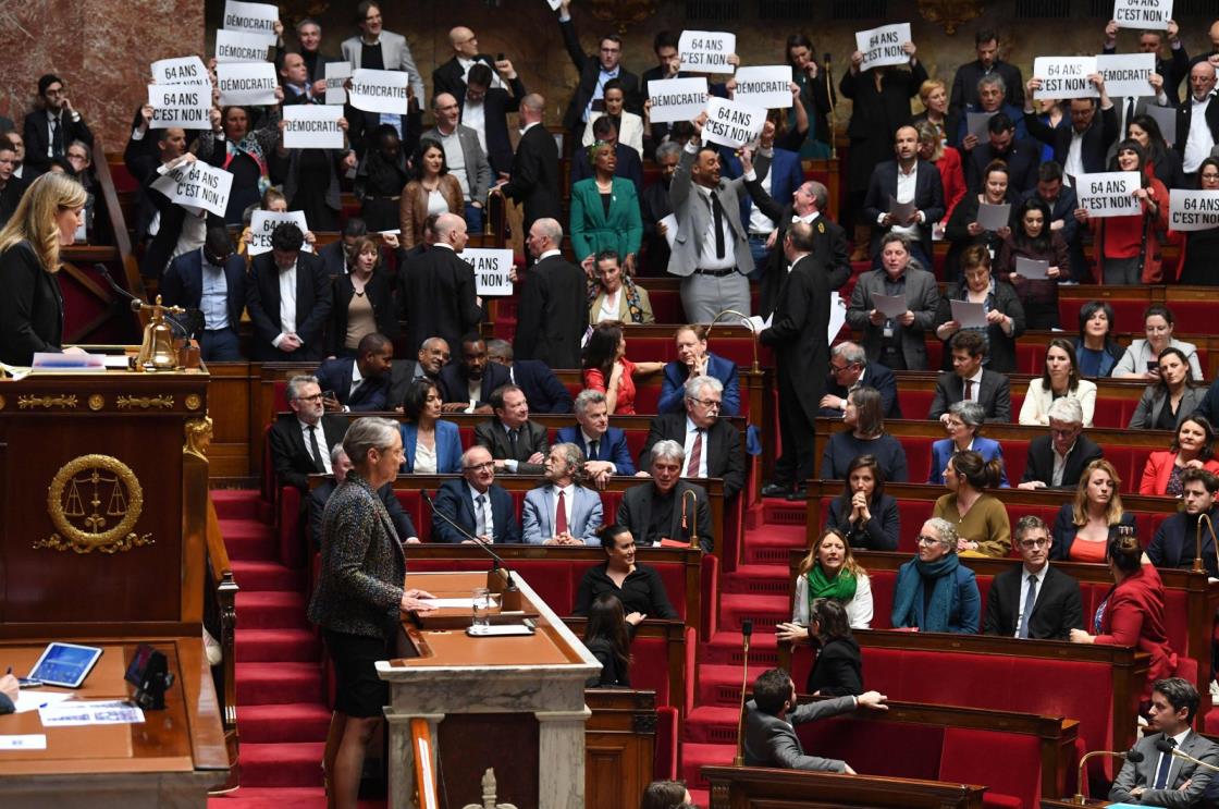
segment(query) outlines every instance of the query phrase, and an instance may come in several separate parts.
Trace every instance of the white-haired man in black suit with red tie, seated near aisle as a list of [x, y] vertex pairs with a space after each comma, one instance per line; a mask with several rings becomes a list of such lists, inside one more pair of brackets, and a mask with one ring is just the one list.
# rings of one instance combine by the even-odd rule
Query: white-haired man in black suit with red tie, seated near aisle
[[724, 498], [745, 486], [745, 449], [741, 433], [727, 419], [719, 417], [724, 386], [716, 377], [696, 376], [685, 383], [685, 412], [666, 412], [652, 419], [640, 453], [639, 467], [647, 467], [652, 447], [674, 440], [685, 453], [681, 477], [724, 480]]

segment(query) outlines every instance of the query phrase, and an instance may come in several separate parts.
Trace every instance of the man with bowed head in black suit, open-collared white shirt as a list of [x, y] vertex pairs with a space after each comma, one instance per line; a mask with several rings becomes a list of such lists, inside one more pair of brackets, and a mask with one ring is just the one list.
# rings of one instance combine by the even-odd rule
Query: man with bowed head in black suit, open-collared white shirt
[[271, 253], [254, 259], [245, 305], [254, 323], [250, 359], [257, 362], [317, 362], [330, 318], [333, 290], [322, 260], [302, 253], [305, 234], [291, 222], [271, 233]]

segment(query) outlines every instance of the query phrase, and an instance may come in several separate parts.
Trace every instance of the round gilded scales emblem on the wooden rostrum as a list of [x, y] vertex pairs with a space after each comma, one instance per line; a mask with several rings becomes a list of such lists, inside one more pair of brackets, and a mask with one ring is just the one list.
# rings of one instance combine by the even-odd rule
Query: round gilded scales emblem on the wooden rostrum
[[34, 548], [113, 554], [150, 545], [132, 528], [144, 511], [144, 489], [127, 464], [110, 455], [80, 455], [65, 464], [46, 491], [55, 533]]

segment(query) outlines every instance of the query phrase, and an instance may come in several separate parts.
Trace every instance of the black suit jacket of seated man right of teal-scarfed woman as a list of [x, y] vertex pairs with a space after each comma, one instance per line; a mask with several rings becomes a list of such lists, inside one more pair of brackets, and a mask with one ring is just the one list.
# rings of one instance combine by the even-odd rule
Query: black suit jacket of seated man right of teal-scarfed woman
[[[986, 593], [984, 635], [1013, 637], [1020, 615], [1020, 584], [1025, 578], [1024, 565], [1004, 570], [991, 582]], [[1029, 616], [1029, 637], [1045, 641], [1067, 641], [1072, 630], [1084, 628], [1084, 606], [1079, 582], [1053, 565], [1037, 589]]]

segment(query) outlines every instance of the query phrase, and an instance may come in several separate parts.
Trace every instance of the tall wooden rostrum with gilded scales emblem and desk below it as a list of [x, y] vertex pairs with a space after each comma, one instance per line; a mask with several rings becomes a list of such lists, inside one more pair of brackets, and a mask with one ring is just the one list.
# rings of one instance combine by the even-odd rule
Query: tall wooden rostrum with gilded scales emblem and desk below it
[[123, 672], [149, 642], [176, 675], [141, 725], [43, 731], [37, 713], [0, 716], [0, 735], [46, 733], [45, 750], [0, 752], [6, 809], [204, 807], [228, 777], [202, 648], [207, 382], [0, 379], [0, 666], [24, 675], [52, 639], [102, 645], [77, 698], [126, 698]]

